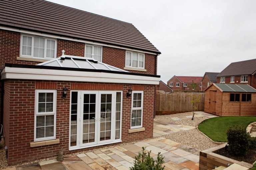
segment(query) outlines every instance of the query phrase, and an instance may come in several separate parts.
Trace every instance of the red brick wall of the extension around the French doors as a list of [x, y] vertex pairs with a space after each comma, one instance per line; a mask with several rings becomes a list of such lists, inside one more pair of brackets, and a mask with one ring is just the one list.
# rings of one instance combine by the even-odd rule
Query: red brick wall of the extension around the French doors
[[[75, 85], [77, 83], [77, 85]], [[69, 89], [67, 97], [62, 98], [62, 89]], [[30, 142], [34, 141], [34, 105], [35, 89], [57, 89], [57, 120], [56, 138], [60, 139], [60, 144], [30, 147]], [[128, 133], [131, 119], [131, 100], [126, 93], [129, 88], [144, 91], [143, 101], [143, 127], [145, 131]], [[81, 83], [81, 82], [62, 82], [62, 81], [26, 81], [26, 80], [7, 80], [5, 81], [5, 119], [10, 115], [10, 127], [5, 124], [5, 133], [8, 146], [8, 163], [16, 164], [20, 162], [32, 161], [51, 156], [57, 156], [61, 147], [65, 148], [64, 154], [75, 153], [91, 148], [68, 151], [69, 142], [69, 103], [70, 90], [90, 89], [90, 90], [123, 90], [122, 106], [122, 141], [130, 142], [150, 138], [153, 135], [153, 116], [155, 101], [154, 85], [131, 85], [131, 84], [109, 84], [109, 83]], [[8, 92], [10, 95], [8, 95]], [[10, 99], [8, 99], [10, 96]], [[10, 105], [10, 106], [9, 106]], [[8, 110], [9, 109], [9, 110]], [[8, 122], [8, 121], [7, 121]], [[8, 130], [10, 131], [8, 135]], [[101, 147], [104, 147], [103, 145]], [[100, 147], [100, 146], [98, 146]], [[97, 148], [97, 147], [93, 147]]]

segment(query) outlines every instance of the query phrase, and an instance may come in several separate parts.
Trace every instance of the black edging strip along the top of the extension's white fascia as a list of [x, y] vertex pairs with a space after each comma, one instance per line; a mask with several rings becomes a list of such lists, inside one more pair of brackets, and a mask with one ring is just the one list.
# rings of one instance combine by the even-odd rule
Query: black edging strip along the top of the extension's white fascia
[[126, 75], [158, 77], [158, 78], [160, 78], [160, 75], [131, 73], [131, 72], [122, 72], [122, 71], [111, 71], [111, 70], [98, 70], [98, 69], [96, 70], [96, 69], [85, 69], [85, 68], [69, 68], [69, 67], [54, 67], [54, 66], [45, 66], [45, 65], [10, 64], [10, 63], [5, 63], [4, 66], [5, 67], [16, 67], [16, 68], [36, 68], [36, 69], [50, 69], [50, 70], [103, 72], [103, 73], [126, 74]]

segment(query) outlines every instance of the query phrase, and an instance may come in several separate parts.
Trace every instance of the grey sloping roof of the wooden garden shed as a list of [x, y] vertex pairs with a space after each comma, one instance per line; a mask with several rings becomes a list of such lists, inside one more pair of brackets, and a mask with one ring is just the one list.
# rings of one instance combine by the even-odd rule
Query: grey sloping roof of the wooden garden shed
[[247, 92], [256, 93], [256, 89], [248, 84], [224, 84], [224, 83], [213, 83], [222, 92]]

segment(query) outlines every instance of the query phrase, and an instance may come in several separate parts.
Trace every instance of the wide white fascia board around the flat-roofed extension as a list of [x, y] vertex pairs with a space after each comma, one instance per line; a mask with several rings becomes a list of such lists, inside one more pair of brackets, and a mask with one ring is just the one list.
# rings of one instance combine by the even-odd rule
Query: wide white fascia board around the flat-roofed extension
[[150, 85], [158, 85], [160, 81], [159, 77], [139, 75], [17, 67], [5, 67], [1, 73], [1, 76], [2, 79], [80, 81]]

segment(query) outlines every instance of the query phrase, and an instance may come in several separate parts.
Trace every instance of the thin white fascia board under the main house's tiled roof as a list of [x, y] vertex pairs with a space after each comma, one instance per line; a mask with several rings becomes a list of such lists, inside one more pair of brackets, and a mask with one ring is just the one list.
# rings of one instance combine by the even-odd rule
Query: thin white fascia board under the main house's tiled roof
[[109, 45], [105, 43], [100, 43], [100, 42], [93, 42], [93, 41], [86, 41], [86, 40], [81, 40], [77, 38], [69, 38], [65, 36], [57, 36], [53, 34], [45, 34], [45, 33], [40, 33], [40, 32], [35, 32], [35, 31], [28, 31], [28, 30], [22, 30], [22, 29], [17, 29], [17, 28], [11, 28], [11, 27], [4, 27], [0, 26], [0, 29], [2, 30], [8, 30], [8, 31], [15, 31], [19, 33], [24, 33], [24, 34], [31, 34], [31, 35], [37, 35], [37, 36], [44, 36], [44, 37], [49, 37], [49, 38], [55, 38], [55, 39], [62, 39], [62, 40], [69, 40], [69, 41], [75, 41], [75, 42], [84, 42], [86, 44], [94, 44], [94, 45], [101, 45], [101, 46], [108, 46], [108, 47], [113, 47], [113, 48], [119, 48], [119, 49], [125, 49], [125, 50], [132, 50], [136, 52], [142, 52], [142, 53], [147, 53], [147, 54], [153, 54], [153, 55], [159, 55], [158, 53], [154, 52], [148, 52], [148, 51], [143, 51], [143, 50], [137, 50], [137, 49], [132, 49], [132, 48], [126, 48], [118, 45]]

